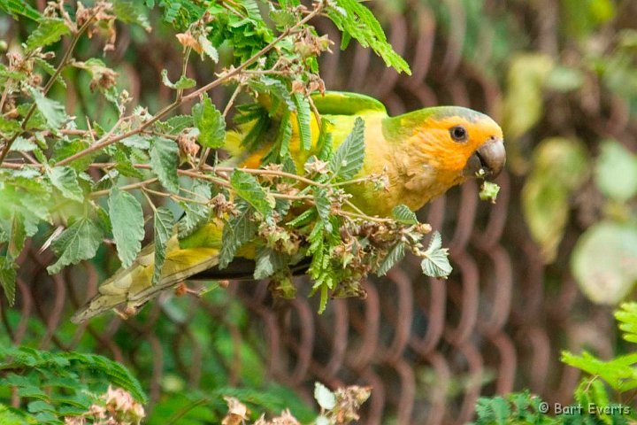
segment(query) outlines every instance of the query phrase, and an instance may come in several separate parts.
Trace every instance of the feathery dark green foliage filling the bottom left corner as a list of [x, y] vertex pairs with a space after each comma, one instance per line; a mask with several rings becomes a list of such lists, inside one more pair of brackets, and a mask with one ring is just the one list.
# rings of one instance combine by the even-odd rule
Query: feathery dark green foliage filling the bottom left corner
[[[119, 390], [112, 390], [111, 385]], [[101, 409], [104, 414], [134, 417], [136, 421], [131, 423], [138, 423], [143, 417], [141, 404], [146, 402], [140, 383], [111, 359], [80, 352], [42, 352], [26, 346], [0, 348], [0, 388], [4, 389], [0, 397], [9, 398], [15, 390], [13, 394], [27, 406], [27, 411], [19, 411], [0, 404], [2, 423], [57, 424], [66, 417]], [[106, 397], [102, 397], [104, 392]], [[116, 398], [126, 400], [127, 408], [121, 408]]]

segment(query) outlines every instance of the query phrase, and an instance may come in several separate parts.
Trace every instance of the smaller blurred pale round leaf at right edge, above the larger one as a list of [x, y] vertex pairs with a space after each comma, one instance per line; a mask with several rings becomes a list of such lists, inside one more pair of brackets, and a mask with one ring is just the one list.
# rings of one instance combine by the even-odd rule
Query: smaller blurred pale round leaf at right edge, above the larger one
[[637, 194], [637, 158], [614, 140], [602, 143], [595, 164], [595, 184], [602, 194], [625, 202]]

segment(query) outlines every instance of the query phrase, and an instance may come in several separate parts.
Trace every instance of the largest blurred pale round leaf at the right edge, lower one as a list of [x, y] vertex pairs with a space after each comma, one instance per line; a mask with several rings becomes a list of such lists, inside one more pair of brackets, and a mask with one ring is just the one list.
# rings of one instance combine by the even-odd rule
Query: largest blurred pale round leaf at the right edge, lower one
[[637, 228], [601, 221], [588, 228], [572, 251], [579, 288], [598, 304], [617, 304], [637, 282]]

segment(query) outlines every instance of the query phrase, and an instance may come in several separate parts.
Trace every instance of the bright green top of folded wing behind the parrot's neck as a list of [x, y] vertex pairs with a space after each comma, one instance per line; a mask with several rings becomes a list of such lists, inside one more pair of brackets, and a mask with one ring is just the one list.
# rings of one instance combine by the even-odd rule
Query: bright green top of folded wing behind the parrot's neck
[[320, 114], [357, 115], [365, 111], [387, 113], [385, 105], [380, 100], [358, 93], [326, 91], [325, 95], [315, 93], [311, 97]]

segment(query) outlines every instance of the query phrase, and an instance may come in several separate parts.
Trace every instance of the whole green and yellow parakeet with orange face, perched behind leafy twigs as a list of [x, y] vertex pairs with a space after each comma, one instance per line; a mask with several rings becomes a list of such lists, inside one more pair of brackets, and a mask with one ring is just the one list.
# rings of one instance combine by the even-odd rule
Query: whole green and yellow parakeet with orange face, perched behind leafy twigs
[[[494, 178], [504, 166], [506, 154], [503, 132], [487, 115], [457, 106], [437, 106], [388, 116], [380, 101], [345, 92], [326, 92], [312, 96], [319, 117], [312, 113], [312, 148], [301, 149], [299, 129], [291, 120], [290, 154], [297, 169], [315, 153], [319, 137], [319, 120], [333, 136], [336, 149], [349, 135], [357, 118], [365, 121], [365, 161], [357, 177], [384, 173], [387, 190], [373, 190], [369, 185], [349, 185], [351, 202], [369, 215], [390, 216], [396, 205], [418, 210], [434, 197], [468, 178]], [[237, 166], [257, 168], [270, 146], [265, 143], [255, 152], [242, 151], [244, 131], [228, 133], [226, 148]], [[165, 264], [159, 282], [152, 285], [154, 247], [142, 249], [132, 266], [120, 269], [98, 289], [94, 298], [76, 313], [72, 321], [90, 317], [118, 305], [136, 311], [148, 299], [170, 289], [196, 274], [233, 279], [250, 275], [254, 251], [249, 246], [237, 253], [233, 263], [223, 270], [219, 250], [224, 221], [215, 219], [195, 233], [178, 240], [173, 236], [166, 246]]]

